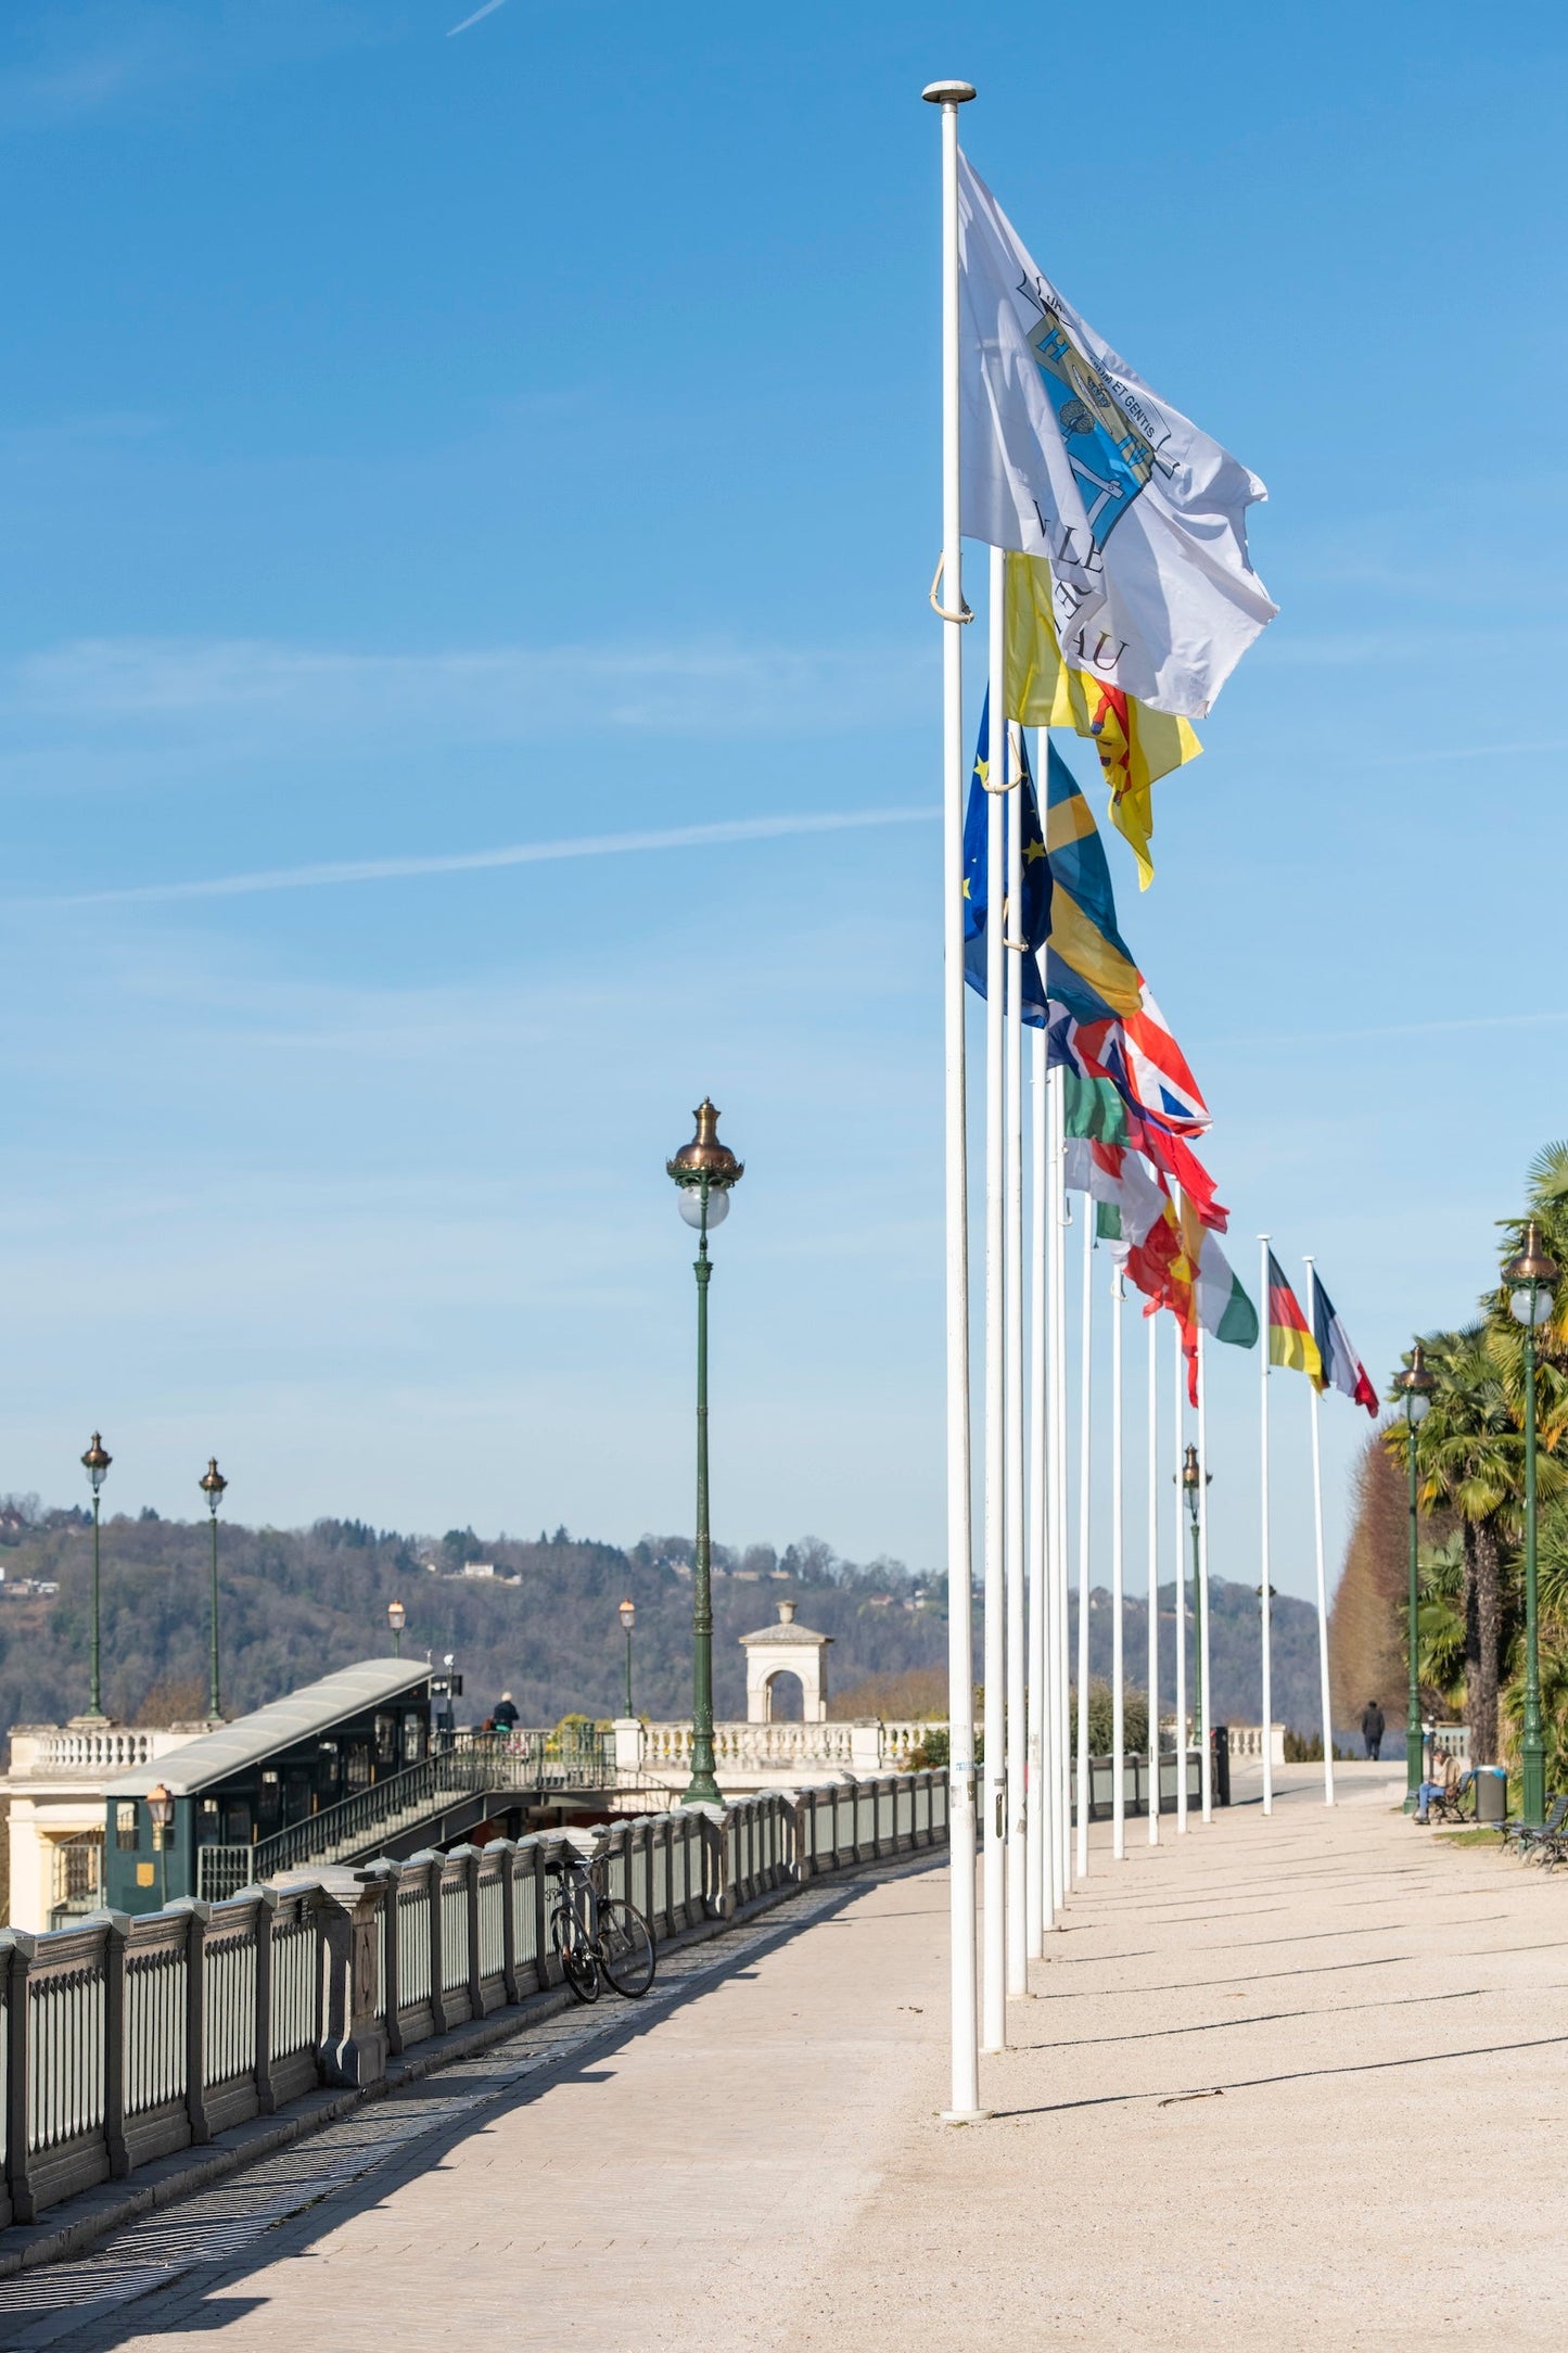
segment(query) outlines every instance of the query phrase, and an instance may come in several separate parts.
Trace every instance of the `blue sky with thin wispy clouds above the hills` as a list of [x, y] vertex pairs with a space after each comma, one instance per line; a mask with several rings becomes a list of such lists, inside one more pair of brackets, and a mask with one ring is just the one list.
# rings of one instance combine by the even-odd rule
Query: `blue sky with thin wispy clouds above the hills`
[[[945, 73], [1269, 485], [1281, 619], [1154, 887], [1112, 856], [1239, 1268], [1316, 1249], [1382, 1381], [1568, 1127], [1561, 9], [465, 14], [0, 26], [0, 1485], [71, 1497], [96, 1424], [127, 1508], [216, 1447], [244, 1518], [686, 1527], [663, 1160], [712, 1092], [719, 1534], [940, 1558]], [[879, 821], [752, 824], [835, 814]], [[1274, 1421], [1305, 1591], [1300, 1381]], [[1232, 1358], [1220, 1574], [1255, 1452]]]

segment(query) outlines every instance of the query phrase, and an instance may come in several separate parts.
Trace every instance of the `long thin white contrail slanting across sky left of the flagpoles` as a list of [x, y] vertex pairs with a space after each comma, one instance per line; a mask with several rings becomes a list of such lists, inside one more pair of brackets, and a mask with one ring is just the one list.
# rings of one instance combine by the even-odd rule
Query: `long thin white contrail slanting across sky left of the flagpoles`
[[607, 859], [632, 849], [705, 849], [722, 842], [773, 842], [790, 833], [849, 833], [860, 826], [912, 826], [936, 819], [919, 809], [818, 809], [799, 816], [726, 816], [710, 826], [665, 826], [646, 833], [581, 833], [562, 842], [505, 842], [498, 849], [456, 849], [411, 859], [341, 859], [322, 866], [270, 866], [247, 875], [200, 882], [134, 882], [125, 889], [66, 892], [33, 906], [136, 906], [153, 899], [244, 899], [263, 889], [322, 889], [329, 882], [404, 882], [411, 875], [487, 873], [496, 866], [545, 866], [555, 859]]

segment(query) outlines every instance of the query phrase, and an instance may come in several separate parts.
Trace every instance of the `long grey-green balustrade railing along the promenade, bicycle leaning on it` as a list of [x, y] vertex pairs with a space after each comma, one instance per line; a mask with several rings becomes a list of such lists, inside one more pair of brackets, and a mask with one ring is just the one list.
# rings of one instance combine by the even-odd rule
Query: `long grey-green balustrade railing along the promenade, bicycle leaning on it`
[[[658, 1941], [823, 1871], [947, 1840], [947, 1777], [882, 1774], [592, 1833]], [[226, 1904], [0, 1932], [0, 2226], [270, 2115], [562, 1979], [548, 1831]], [[244, 1849], [254, 1854], [254, 1849]]]

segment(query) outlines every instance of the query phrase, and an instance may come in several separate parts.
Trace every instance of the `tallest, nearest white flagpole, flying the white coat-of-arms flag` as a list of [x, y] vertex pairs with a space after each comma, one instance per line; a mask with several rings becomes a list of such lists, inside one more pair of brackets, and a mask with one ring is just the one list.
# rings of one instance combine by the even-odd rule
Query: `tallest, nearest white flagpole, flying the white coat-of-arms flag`
[[947, 1221], [947, 2120], [978, 2118], [976, 1729], [969, 1468], [969, 1151], [964, 1129], [964, 579], [959, 525], [959, 106], [969, 82], [933, 82], [943, 108], [943, 1179]]

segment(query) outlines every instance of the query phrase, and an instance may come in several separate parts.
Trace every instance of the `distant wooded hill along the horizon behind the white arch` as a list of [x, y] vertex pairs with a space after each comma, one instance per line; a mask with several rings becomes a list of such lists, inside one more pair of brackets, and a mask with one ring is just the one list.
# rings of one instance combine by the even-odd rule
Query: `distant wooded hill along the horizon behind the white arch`
[[[691, 1713], [691, 1541], [644, 1537], [623, 1551], [574, 1539], [536, 1541], [402, 1537], [360, 1520], [310, 1529], [240, 1527], [221, 1534], [223, 1708], [256, 1708], [353, 1659], [393, 1649], [386, 1605], [402, 1600], [404, 1657], [456, 1654], [465, 1678], [461, 1720], [477, 1722], [510, 1689], [524, 1722], [569, 1711], [616, 1715], [625, 1704], [618, 1602], [637, 1605], [632, 1697], [639, 1715]], [[113, 1518], [103, 1522], [103, 1704], [125, 1722], [172, 1722], [207, 1706], [207, 1522]], [[792, 1595], [804, 1624], [832, 1635], [830, 1689], [919, 1689], [919, 1671], [945, 1668], [945, 1593], [891, 1560], [839, 1560], [820, 1539], [783, 1555], [769, 1546], [719, 1551], [715, 1577], [715, 1708], [745, 1713], [743, 1633]], [[433, 1572], [428, 1560], [437, 1562]], [[498, 1574], [463, 1577], [489, 1562]], [[87, 1706], [92, 1525], [47, 1513], [42, 1525], [0, 1518], [0, 1732], [63, 1722]], [[19, 1584], [56, 1584], [54, 1595]], [[1161, 1598], [1161, 1704], [1173, 1701], [1173, 1602]], [[1110, 1595], [1091, 1614], [1091, 1668], [1110, 1671]], [[1248, 1586], [1213, 1586], [1215, 1718], [1258, 1720], [1258, 1600]], [[1145, 1607], [1126, 1605], [1128, 1678], [1143, 1682]], [[980, 1642], [976, 1626], [976, 1664]], [[1274, 1605], [1274, 1711], [1319, 1727], [1316, 1612]], [[835, 1711], [837, 1713], [837, 1711]]]

